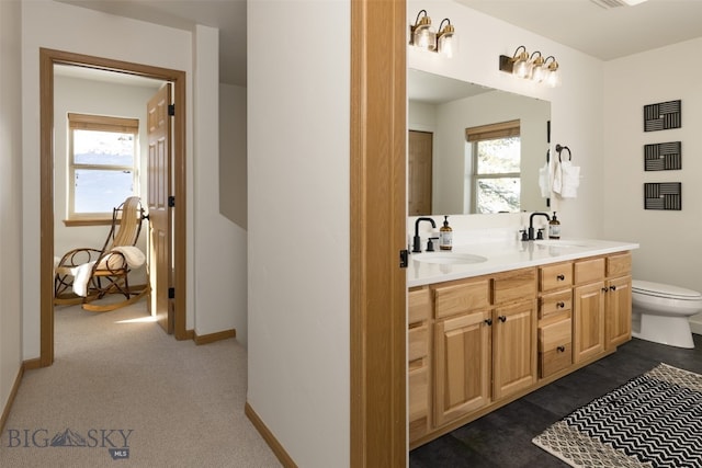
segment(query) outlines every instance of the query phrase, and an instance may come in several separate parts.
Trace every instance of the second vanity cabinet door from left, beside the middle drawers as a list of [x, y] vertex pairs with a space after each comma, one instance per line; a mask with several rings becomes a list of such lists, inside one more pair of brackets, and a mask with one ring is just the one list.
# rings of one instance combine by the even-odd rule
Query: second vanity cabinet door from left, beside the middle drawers
[[499, 400], [536, 383], [536, 301], [492, 312], [492, 399]]

